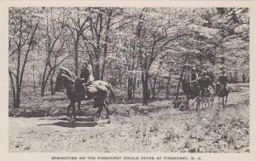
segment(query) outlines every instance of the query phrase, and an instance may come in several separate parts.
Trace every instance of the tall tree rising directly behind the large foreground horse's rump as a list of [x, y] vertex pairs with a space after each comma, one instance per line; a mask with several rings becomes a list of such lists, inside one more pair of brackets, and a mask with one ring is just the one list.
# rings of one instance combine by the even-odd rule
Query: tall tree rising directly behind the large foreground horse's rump
[[96, 80], [104, 79], [109, 44], [117, 23], [113, 19], [121, 13], [119, 8], [90, 8], [90, 32], [85, 32], [83, 38]]

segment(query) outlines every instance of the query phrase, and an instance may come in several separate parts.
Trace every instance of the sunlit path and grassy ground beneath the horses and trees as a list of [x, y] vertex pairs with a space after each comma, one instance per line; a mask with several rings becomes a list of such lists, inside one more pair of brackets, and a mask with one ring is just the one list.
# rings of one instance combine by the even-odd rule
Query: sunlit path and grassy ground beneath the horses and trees
[[248, 84], [232, 89], [226, 108], [217, 99], [211, 108], [184, 112], [172, 100], [111, 104], [110, 124], [93, 124], [91, 108], [69, 123], [62, 115], [67, 101], [45, 99], [47, 117], [9, 117], [9, 152], [249, 152]]

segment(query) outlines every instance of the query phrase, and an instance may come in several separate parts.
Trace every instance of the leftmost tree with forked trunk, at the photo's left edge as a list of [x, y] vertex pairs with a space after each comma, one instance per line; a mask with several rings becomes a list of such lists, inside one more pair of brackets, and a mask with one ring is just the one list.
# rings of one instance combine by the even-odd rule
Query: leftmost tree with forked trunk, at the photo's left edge
[[20, 108], [20, 93], [28, 57], [37, 45], [35, 41], [38, 31], [40, 9], [34, 13], [31, 8], [9, 8], [9, 66], [14, 108]]

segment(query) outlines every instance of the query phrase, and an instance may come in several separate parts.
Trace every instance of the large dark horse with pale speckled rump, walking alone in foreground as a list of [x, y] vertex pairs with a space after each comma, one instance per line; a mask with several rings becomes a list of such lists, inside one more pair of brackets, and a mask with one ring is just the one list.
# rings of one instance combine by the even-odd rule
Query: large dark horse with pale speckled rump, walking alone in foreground
[[[67, 89], [67, 98], [70, 101], [70, 104], [67, 106], [68, 121], [75, 121], [75, 104], [78, 103], [79, 112], [81, 112], [81, 101], [84, 95], [87, 95], [88, 99], [94, 99], [94, 107], [99, 107], [96, 111], [95, 122], [101, 117], [104, 108], [107, 112], [108, 123], [110, 123], [107, 95], [110, 93], [109, 95], [112, 96], [114, 100], [114, 94], [109, 83], [97, 80], [85, 88], [82, 83], [76, 82], [78, 78], [67, 68], [61, 67], [60, 71], [57, 73], [55, 91], [60, 91], [61, 87], [65, 87]], [[72, 115], [69, 114], [71, 106], [73, 107]]]

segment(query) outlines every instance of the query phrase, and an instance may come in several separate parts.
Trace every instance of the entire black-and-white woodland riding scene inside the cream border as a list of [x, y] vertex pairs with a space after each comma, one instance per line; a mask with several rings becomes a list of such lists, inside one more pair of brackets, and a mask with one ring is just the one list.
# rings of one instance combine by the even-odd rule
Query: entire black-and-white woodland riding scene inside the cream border
[[250, 11], [9, 7], [8, 152], [249, 154]]

